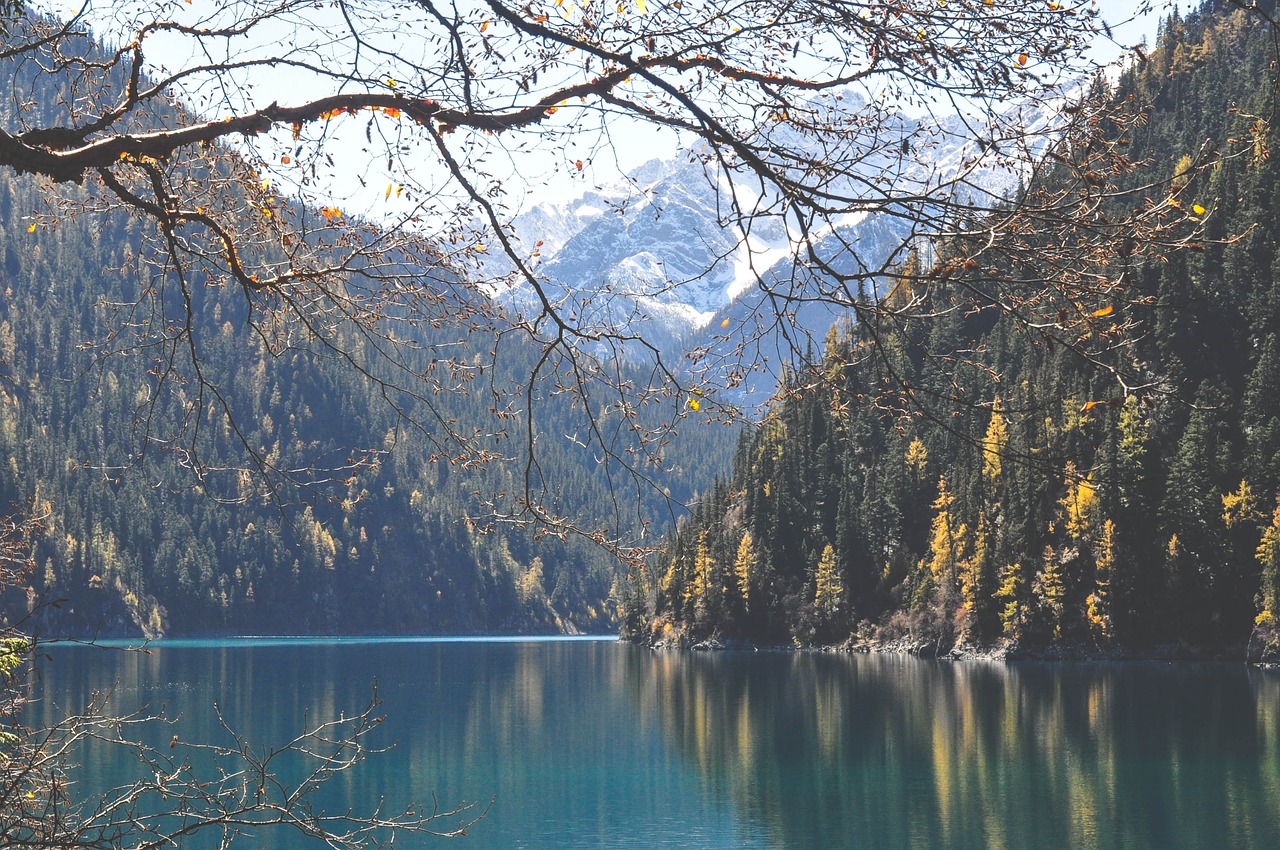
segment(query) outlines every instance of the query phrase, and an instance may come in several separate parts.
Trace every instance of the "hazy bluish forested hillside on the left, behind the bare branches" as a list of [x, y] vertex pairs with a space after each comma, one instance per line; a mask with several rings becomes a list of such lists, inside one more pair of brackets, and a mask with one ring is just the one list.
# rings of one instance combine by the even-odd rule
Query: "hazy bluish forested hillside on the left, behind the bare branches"
[[[3, 74], [47, 82], [31, 63]], [[69, 95], [50, 88], [29, 106], [56, 123]], [[77, 205], [88, 211], [64, 214]], [[466, 321], [477, 305], [457, 305], [452, 326], [424, 324], [406, 347], [422, 374], [458, 364], [467, 373], [445, 375], [439, 383], [460, 390], [431, 394], [429, 410], [403, 370], [387, 375], [372, 356], [353, 365], [321, 346], [282, 348], [247, 321], [243, 293], [197, 283], [189, 344], [201, 384], [180, 369], [165, 374], [182, 365], [180, 332], [169, 334], [177, 355], [133, 344], [152, 323], [180, 329], [188, 310], [184, 291], [163, 279], [172, 273], [152, 262], [143, 228], [154, 225], [93, 206], [83, 191], [0, 174], [0, 504], [44, 524], [42, 571], [10, 589], [0, 616], [45, 599], [61, 602], [40, 627], [78, 634], [616, 626], [617, 562], [604, 548], [536, 527], [481, 527], [526, 483], [582, 529], [626, 536], [640, 525], [635, 499], [613, 511], [595, 454], [572, 439], [581, 411], [549, 385], [535, 388], [534, 430], [495, 420], [507, 405], [494, 393], [524, 385], [534, 364], [518, 346], [485, 356], [494, 338]], [[433, 430], [435, 416], [454, 433], [493, 434], [492, 460], [451, 462], [451, 447], [431, 439], [448, 430]], [[645, 472], [678, 501], [684, 481], [727, 461], [726, 434], [691, 429]], [[526, 437], [536, 439], [531, 472]], [[636, 492], [655, 521], [671, 516], [659, 490]]]

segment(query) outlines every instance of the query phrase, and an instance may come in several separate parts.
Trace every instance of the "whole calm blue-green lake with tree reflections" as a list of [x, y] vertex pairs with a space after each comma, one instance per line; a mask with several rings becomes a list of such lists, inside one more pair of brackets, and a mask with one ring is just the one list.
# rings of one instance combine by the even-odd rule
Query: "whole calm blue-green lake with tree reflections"
[[[280, 744], [376, 681], [394, 744], [330, 790], [492, 808], [483, 849], [1280, 846], [1280, 671], [650, 652], [612, 640], [165, 641], [55, 648], [46, 719], [110, 689], [156, 744]], [[128, 781], [118, 748], [84, 787]], [[212, 846], [211, 837], [188, 847]], [[297, 836], [242, 845], [292, 850]]]

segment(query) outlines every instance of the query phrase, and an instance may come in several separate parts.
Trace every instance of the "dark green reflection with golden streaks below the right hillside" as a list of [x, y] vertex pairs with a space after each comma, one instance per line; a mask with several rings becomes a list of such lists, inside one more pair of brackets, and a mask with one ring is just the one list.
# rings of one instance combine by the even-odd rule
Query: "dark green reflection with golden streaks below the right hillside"
[[645, 721], [790, 847], [1265, 847], [1280, 676], [657, 654]]

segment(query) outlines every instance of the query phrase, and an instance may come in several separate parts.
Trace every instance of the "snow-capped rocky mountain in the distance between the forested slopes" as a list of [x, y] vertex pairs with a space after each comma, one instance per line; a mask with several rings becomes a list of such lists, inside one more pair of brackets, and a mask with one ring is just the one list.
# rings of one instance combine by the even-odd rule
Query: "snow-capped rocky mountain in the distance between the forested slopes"
[[[850, 106], [840, 104], [846, 113]], [[1051, 128], [1053, 118], [1039, 110], [1016, 120], [1025, 136], [1028, 127]], [[813, 142], [788, 137], [778, 143], [804, 150]], [[733, 385], [735, 401], [754, 403], [772, 393], [783, 364], [806, 348], [820, 351], [842, 312], [829, 302], [867, 296], [833, 285], [823, 293], [808, 260], [815, 255], [828, 268], [867, 275], [874, 294], [874, 273], [904, 260], [922, 238], [915, 214], [888, 202], [888, 187], [901, 192], [915, 184], [922, 193], [987, 195], [988, 201], [1004, 196], [1021, 174], [984, 154], [989, 147], [959, 124], [927, 131], [905, 116], [882, 122], [874, 136], [828, 142], [813, 155], [847, 163], [833, 169], [831, 191], [867, 197], [868, 209], [836, 210], [803, 238], [777, 215], [744, 215], [769, 207], [768, 198], [717, 173], [699, 148], [650, 161], [571, 202], [534, 206], [515, 219], [515, 232], [562, 315], [582, 328], [641, 335], [669, 360], [699, 351], [709, 383]], [[884, 204], [876, 210], [882, 191]], [[503, 260], [490, 262], [493, 271]], [[540, 307], [527, 282], [498, 297], [526, 315]], [[640, 346], [621, 351], [648, 356]]]

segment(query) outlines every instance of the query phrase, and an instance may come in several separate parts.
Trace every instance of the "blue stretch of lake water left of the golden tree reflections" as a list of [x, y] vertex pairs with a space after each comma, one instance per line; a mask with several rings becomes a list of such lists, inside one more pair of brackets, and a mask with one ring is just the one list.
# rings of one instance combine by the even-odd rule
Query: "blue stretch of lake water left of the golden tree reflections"
[[[614, 643], [364, 643], [165, 646], [151, 655], [55, 652], [40, 710], [52, 719], [111, 687], [114, 710], [146, 704], [177, 717], [150, 730], [165, 746], [218, 740], [212, 707], [260, 742], [305, 717], [351, 716], [376, 680], [394, 745], [330, 789], [330, 809], [439, 800], [493, 808], [465, 840], [493, 850], [764, 847], [731, 801], [700, 794], [696, 771], [635, 716], [626, 684], [649, 655]], [[55, 705], [56, 703], [56, 705]], [[86, 750], [83, 786], [132, 778], [136, 759]], [[204, 845], [192, 845], [204, 846]], [[297, 836], [244, 847], [301, 850]], [[419, 845], [413, 845], [419, 846]]]

